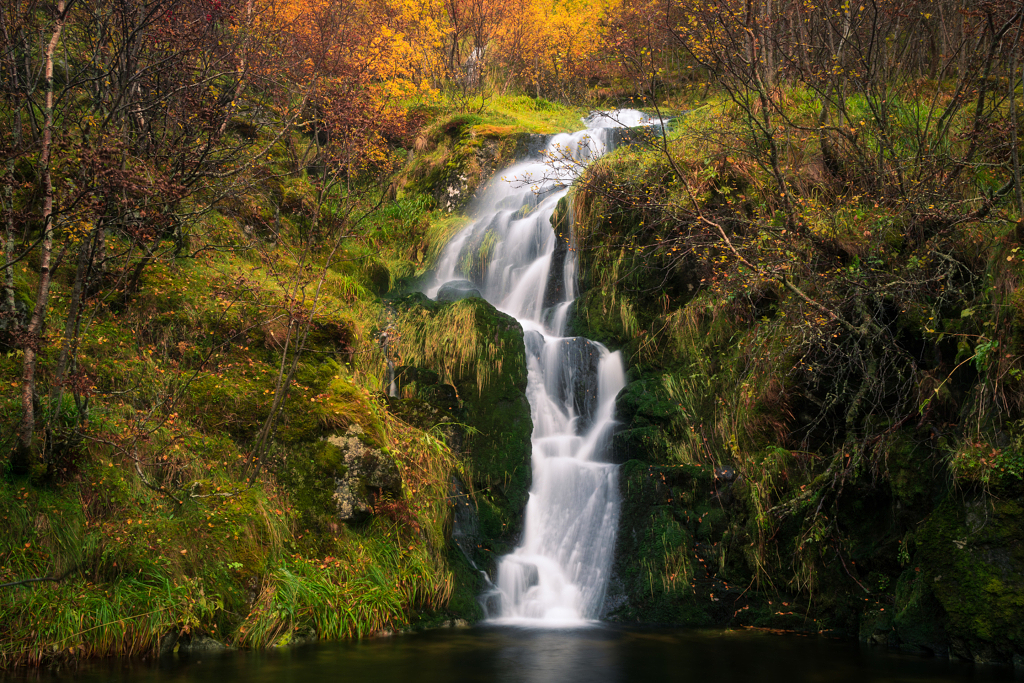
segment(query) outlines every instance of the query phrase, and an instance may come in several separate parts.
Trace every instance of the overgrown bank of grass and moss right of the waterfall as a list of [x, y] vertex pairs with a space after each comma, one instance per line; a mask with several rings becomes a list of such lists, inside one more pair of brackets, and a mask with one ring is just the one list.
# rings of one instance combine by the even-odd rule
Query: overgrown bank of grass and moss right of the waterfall
[[[914, 95], [930, 96], [948, 106], [946, 91]], [[575, 331], [631, 367], [611, 616], [1010, 660], [1024, 318], [1004, 147], [925, 190], [972, 154], [974, 119], [951, 118], [948, 158], [920, 168], [907, 97], [829, 171], [802, 132], [820, 101], [775, 97], [777, 168], [742, 95], [724, 94], [574, 190]], [[919, 191], [859, 166], [885, 145]]]

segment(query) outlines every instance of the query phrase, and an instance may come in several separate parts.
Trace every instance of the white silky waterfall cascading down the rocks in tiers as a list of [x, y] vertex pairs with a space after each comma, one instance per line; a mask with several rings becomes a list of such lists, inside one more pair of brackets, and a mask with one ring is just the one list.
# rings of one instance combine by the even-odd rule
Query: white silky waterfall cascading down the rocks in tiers
[[[522, 545], [499, 561], [486, 600], [487, 616], [497, 622], [564, 626], [596, 618], [614, 552], [618, 471], [606, 453], [615, 395], [626, 384], [623, 360], [597, 342], [564, 336], [575, 259], [572, 250], [556, 249], [551, 217], [580, 169], [613, 145], [614, 129], [652, 122], [617, 110], [584, 123], [586, 130], [552, 136], [540, 158], [489, 184], [476, 220], [445, 248], [426, 289], [436, 297], [445, 285], [476, 288], [516, 317], [525, 335], [534, 484]], [[486, 266], [470, 284], [459, 266], [464, 252], [481, 244], [489, 245]]]

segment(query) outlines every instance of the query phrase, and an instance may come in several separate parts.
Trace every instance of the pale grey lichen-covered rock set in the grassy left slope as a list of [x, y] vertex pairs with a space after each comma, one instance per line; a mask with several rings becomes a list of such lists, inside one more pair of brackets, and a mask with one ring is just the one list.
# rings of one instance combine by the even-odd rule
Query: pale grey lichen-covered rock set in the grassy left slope
[[401, 496], [401, 474], [394, 460], [359, 439], [361, 430], [352, 426], [344, 435], [329, 436], [330, 447], [340, 452], [334, 500], [338, 519], [357, 522], [373, 513], [382, 496]]

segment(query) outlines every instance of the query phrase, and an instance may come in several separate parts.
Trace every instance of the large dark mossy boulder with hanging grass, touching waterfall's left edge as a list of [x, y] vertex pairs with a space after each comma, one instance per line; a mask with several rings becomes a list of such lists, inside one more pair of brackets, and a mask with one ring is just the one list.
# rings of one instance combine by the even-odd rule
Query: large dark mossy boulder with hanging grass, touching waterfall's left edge
[[530, 485], [522, 327], [476, 297], [438, 302], [417, 294], [392, 305], [404, 322], [402, 338], [417, 342], [403, 347], [390, 410], [424, 428], [459, 426], [445, 427], [445, 437], [466, 461], [469, 480], [460, 485], [471, 493], [474, 516], [460, 547], [478, 569], [489, 569], [518, 541]]

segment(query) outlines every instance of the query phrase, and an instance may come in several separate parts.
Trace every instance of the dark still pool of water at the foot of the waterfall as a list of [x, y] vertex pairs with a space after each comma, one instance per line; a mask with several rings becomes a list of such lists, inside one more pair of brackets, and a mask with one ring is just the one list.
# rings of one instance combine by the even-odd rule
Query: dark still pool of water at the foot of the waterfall
[[[23, 676], [18, 676], [25, 680]], [[57, 683], [867, 683], [1017, 681], [1010, 668], [888, 653], [856, 643], [752, 631], [568, 631], [480, 627], [282, 652], [96, 663]], [[3, 679], [0, 676], [0, 679]], [[7, 679], [3, 679], [7, 680]]]

